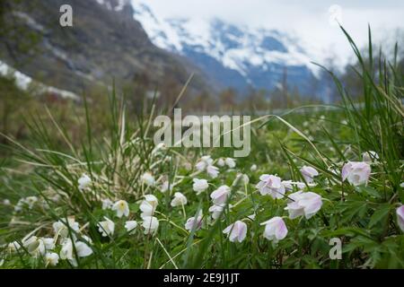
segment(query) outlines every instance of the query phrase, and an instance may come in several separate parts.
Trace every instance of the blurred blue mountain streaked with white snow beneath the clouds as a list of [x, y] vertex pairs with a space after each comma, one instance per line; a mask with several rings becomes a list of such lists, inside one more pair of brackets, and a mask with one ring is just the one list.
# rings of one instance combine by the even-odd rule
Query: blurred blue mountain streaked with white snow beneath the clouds
[[224, 87], [272, 90], [286, 78], [289, 86], [310, 91], [315, 67], [285, 33], [219, 19], [159, 19], [147, 4], [117, 0], [117, 6], [129, 3], [154, 45], [188, 57]]

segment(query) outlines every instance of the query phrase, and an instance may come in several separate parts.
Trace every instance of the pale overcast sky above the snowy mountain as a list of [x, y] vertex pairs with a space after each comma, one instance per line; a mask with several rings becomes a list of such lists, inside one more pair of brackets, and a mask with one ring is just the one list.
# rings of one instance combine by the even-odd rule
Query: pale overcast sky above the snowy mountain
[[374, 30], [373, 38], [383, 41], [392, 40], [387, 35], [393, 35], [397, 28], [404, 30], [404, 0], [147, 0], [145, 3], [163, 18], [218, 17], [251, 27], [288, 31], [302, 39], [302, 46], [313, 61], [334, 57], [345, 62], [350, 55], [342, 32], [329, 23], [331, 14], [338, 15], [360, 46], [367, 39], [367, 23]]

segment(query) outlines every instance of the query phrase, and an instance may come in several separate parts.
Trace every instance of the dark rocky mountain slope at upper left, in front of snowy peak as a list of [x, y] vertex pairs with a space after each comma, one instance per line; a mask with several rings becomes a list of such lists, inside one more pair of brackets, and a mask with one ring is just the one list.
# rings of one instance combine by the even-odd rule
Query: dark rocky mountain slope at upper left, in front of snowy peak
[[[4, 22], [13, 25], [7, 28], [11, 32], [0, 33], [0, 59], [42, 83], [80, 93], [93, 84], [131, 81], [138, 74], [146, 74], [157, 85], [167, 75], [183, 84], [195, 73], [191, 90], [210, 87], [196, 65], [154, 46], [126, 1], [16, 0], [4, 4], [8, 5]], [[73, 28], [59, 25], [62, 4], [73, 7]]]

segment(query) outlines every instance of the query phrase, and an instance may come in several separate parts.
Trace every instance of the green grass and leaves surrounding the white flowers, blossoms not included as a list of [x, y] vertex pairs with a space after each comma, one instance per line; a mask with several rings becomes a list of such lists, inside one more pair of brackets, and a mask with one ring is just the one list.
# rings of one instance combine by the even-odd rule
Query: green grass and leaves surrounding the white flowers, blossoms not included
[[[394, 213], [404, 202], [400, 187], [402, 74], [397, 72], [396, 60], [390, 63], [382, 59], [382, 53], [377, 57], [378, 63], [374, 63], [370, 30], [368, 61], [347, 31], [342, 30], [360, 63], [356, 74], [364, 87], [362, 104], [358, 105], [337, 76], [330, 73], [341, 94], [339, 110], [330, 111], [325, 118], [316, 113], [290, 113], [253, 126], [250, 157], [239, 159], [236, 169], [221, 170], [219, 178], [209, 178], [210, 187], [203, 196], [193, 192], [192, 178], [206, 175], [193, 170], [193, 165], [203, 154], [212, 154], [217, 159], [228, 157], [231, 151], [154, 146], [153, 103], [151, 109], [139, 112], [136, 120], [128, 120], [125, 98], [112, 91], [110, 112], [105, 114], [110, 128], [107, 135], [99, 137], [93, 134], [91, 104], [84, 98], [85, 116], [80, 118], [79, 125], [85, 126], [86, 133], [80, 146], [69, 138], [66, 126], [59, 126], [52, 110], [45, 109], [53, 127], [40, 117], [27, 121], [31, 144], [22, 145], [4, 135], [13, 145], [14, 158], [26, 170], [7, 168], [2, 175], [4, 185], [0, 195], [12, 199], [14, 205], [22, 196], [38, 196], [40, 203], [31, 209], [25, 206], [19, 213], [4, 204], [0, 209], [4, 215], [0, 243], [13, 240], [22, 243], [27, 234], [52, 236], [53, 222], [75, 216], [82, 229], [77, 232], [67, 226], [70, 237], [83, 239], [90, 245], [83, 237], [88, 236], [93, 251], [90, 257], [76, 256], [79, 268], [404, 267], [404, 237]], [[343, 120], [346, 122], [342, 124]], [[303, 121], [309, 124], [304, 126]], [[56, 133], [63, 144], [55, 142]], [[342, 165], [362, 161], [362, 153], [367, 151], [379, 155], [372, 165], [369, 184], [352, 187], [342, 182]], [[250, 170], [253, 163], [258, 165], [257, 171]], [[305, 182], [299, 170], [302, 165], [320, 171], [317, 185], [306, 182], [306, 189], [321, 195], [323, 206], [310, 220], [286, 219], [287, 198], [260, 196], [255, 183], [263, 173]], [[153, 187], [141, 178], [149, 171], [156, 178]], [[250, 182], [238, 177], [239, 173], [247, 174]], [[91, 187], [85, 191], [77, 184], [83, 174], [92, 179]], [[160, 185], [165, 180], [173, 188], [162, 193]], [[232, 187], [228, 203], [233, 207], [227, 205], [219, 220], [207, 220], [209, 193], [224, 184]], [[186, 208], [171, 207], [176, 191], [188, 197]], [[159, 230], [154, 235], [145, 235], [138, 226], [135, 234], [128, 234], [124, 223], [129, 219], [141, 222], [139, 203], [146, 194], [159, 199], [155, 213], [160, 221]], [[129, 218], [119, 219], [113, 211], [103, 210], [101, 200], [106, 198], [125, 199], [129, 203]], [[204, 214], [204, 228], [185, 230], [185, 221], [199, 210]], [[253, 213], [255, 219], [249, 218]], [[104, 216], [116, 223], [113, 236], [101, 237], [97, 224]], [[259, 225], [273, 216], [283, 216], [289, 230], [287, 238], [277, 244], [262, 237], [263, 227]], [[236, 220], [249, 226], [247, 239], [238, 244], [230, 242], [222, 232]], [[329, 258], [329, 239], [333, 237], [343, 242], [342, 260]], [[46, 266], [43, 258], [32, 258], [28, 251], [22, 248], [12, 254], [4, 246], [4, 266]], [[60, 251], [59, 247], [56, 251]], [[60, 261], [57, 266], [74, 267], [68, 261]]]

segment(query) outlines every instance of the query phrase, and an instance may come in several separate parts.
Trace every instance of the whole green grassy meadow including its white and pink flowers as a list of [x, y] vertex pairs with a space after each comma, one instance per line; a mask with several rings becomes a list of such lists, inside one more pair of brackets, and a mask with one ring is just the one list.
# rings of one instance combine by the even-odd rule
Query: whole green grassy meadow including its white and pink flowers
[[245, 158], [155, 146], [164, 111], [114, 91], [32, 104], [2, 134], [0, 268], [404, 268], [403, 74], [347, 39], [363, 95], [330, 74], [332, 109], [251, 115]]

